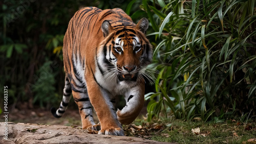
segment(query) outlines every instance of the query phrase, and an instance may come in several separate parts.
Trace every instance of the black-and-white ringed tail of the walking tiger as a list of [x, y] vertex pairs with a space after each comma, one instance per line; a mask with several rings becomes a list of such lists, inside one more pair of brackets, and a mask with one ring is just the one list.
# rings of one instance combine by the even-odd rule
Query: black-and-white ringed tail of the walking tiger
[[70, 85], [67, 75], [66, 75], [65, 79], [66, 79], [65, 87], [63, 89], [63, 97], [62, 97], [60, 106], [57, 110], [54, 107], [51, 108], [52, 115], [56, 118], [61, 117], [63, 115], [63, 113], [65, 112], [65, 110], [67, 109], [67, 106], [68, 106], [69, 100], [70, 100], [70, 95], [72, 93], [71, 85]]

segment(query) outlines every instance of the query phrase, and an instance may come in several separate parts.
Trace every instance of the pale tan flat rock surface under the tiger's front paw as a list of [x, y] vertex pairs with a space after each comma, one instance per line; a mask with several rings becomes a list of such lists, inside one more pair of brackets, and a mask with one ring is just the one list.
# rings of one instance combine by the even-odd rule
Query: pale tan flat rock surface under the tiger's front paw
[[138, 137], [90, 134], [87, 130], [70, 126], [0, 123], [0, 143], [168, 143]]

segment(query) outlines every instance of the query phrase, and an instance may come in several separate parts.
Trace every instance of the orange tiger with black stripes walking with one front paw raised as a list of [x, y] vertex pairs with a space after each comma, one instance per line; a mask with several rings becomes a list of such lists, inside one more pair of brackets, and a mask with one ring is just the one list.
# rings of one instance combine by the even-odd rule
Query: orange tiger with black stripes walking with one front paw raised
[[[72, 93], [82, 129], [124, 135], [122, 125], [131, 124], [144, 104], [144, 75], [153, 57], [147, 29], [146, 18], [136, 25], [119, 8], [78, 10], [63, 38], [65, 87], [60, 106], [57, 110], [52, 108], [52, 114], [62, 116]], [[120, 95], [126, 105], [116, 110], [116, 98]], [[94, 123], [92, 108], [99, 124]]]

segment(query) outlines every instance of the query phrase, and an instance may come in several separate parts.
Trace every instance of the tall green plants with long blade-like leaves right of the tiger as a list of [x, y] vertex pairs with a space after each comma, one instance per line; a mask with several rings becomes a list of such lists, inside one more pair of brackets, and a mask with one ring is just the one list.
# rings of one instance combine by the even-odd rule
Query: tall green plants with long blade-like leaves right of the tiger
[[[148, 120], [256, 115], [255, 1], [142, 1], [154, 30]], [[154, 43], [153, 43], [154, 44]]]

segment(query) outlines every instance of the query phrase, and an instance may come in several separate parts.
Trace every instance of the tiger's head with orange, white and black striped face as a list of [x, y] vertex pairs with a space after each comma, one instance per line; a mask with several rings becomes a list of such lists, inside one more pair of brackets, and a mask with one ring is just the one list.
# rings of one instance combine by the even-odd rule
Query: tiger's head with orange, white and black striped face
[[111, 74], [110, 77], [117, 76], [119, 81], [126, 83], [143, 79], [153, 54], [152, 45], [145, 37], [147, 28], [146, 18], [142, 18], [137, 25], [128, 26], [112, 27], [108, 20], [102, 22], [103, 66]]

